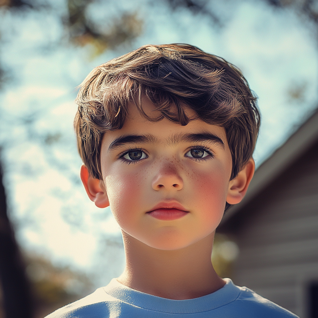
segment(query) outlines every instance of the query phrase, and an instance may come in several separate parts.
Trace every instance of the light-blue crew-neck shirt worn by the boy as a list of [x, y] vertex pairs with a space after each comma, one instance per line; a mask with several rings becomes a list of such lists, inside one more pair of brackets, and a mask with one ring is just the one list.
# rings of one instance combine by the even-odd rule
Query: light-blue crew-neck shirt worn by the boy
[[224, 287], [212, 294], [173, 300], [131, 289], [114, 278], [46, 318], [297, 318], [251, 289], [225, 280]]

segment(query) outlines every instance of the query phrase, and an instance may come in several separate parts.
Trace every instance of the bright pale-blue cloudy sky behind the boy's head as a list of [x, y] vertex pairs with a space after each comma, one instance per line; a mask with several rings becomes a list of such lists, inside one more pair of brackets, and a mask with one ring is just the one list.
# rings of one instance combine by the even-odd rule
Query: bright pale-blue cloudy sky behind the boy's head
[[[238, 66], [258, 96], [262, 115], [254, 152], [259, 166], [317, 107], [317, 42], [314, 26], [293, 10], [265, 1], [210, 1], [223, 26], [162, 1], [112, 0], [89, 6], [87, 15], [107, 24], [136, 12], [143, 32], [131, 45], [93, 57], [93, 48], [66, 40], [54, 10], [0, 11], [0, 60], [10, 80], [0, 91], [0, 144], [10, 219], [19, 244], [54, 264], [96, 273], [106, 285], [120, 275], [120, 228], [109, 208], [99, 209], [80, 183], [73, 119], [76, 86], [93, 67], [145, 44], [189, 43]], [[298, 89], [297, 100], [290, 91]]]

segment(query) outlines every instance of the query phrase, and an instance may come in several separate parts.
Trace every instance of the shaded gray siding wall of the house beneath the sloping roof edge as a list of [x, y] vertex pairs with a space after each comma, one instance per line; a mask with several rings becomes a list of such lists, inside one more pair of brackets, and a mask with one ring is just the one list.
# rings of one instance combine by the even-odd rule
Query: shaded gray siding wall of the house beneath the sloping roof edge
[[223, 228], [240, 248], [234, 282], [301, 317], [308, 283], [318, 281], [317, 150], [316, 143]]

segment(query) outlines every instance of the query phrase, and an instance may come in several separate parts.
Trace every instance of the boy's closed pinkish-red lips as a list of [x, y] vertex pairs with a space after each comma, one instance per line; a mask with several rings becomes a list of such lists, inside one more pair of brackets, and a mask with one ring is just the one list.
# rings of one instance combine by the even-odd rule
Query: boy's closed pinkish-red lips
[[153, 218], [172, 221], [186, 216], [189, 212], [178, 202], [162, 202], [157, 204], [152, 211], [147, 212]]

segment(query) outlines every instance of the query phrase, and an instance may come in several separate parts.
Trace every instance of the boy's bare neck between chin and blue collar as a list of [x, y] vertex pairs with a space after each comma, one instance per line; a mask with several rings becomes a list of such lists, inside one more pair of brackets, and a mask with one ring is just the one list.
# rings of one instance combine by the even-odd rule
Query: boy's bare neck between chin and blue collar
[[225, 285], [211, 263], [214, 233], [173, 251], [152, 248], [123, 232], [126, 268], [117, 279], [141, 292], [191, 299], [211, 294]]

